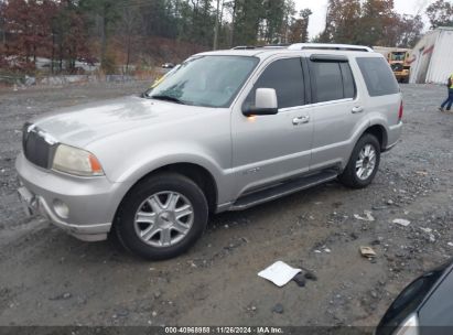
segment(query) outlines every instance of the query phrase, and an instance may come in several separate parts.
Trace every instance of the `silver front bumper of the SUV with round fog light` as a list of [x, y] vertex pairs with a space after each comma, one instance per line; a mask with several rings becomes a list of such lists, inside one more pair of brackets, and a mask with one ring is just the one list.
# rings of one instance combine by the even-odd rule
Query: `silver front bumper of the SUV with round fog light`
[[[126, 191], [107, 177], [76, 177], [40, 169], [21, 153], [15, 168], [20, 198], [30, 213], [39, 213], [66, 233], [85, 241], [107, 239]], [[67, 210], [58, 210], [65, 205]]]

